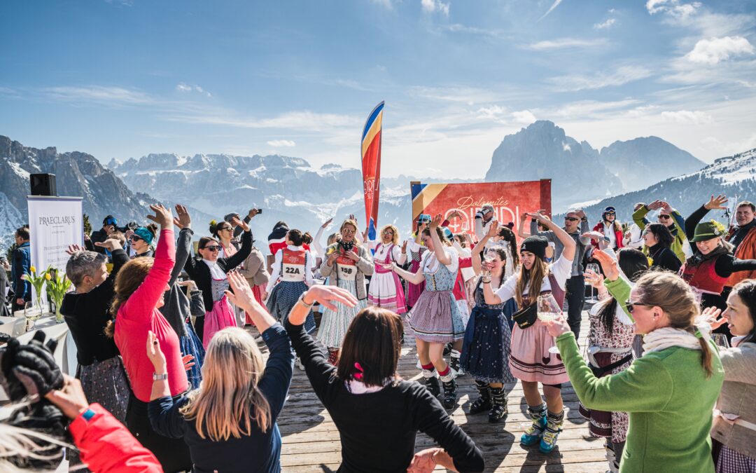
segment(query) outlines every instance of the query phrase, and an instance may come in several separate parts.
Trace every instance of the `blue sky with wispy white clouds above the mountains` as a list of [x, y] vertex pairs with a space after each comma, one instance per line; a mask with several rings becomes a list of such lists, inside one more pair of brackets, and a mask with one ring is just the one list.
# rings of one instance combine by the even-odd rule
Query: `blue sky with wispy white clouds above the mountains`
[[756, 148], [756, 2], [5, 0], [0, 135], [107, 162], [286, 154], [383, 175], [485, 175], [552, 120], [600, 148]]

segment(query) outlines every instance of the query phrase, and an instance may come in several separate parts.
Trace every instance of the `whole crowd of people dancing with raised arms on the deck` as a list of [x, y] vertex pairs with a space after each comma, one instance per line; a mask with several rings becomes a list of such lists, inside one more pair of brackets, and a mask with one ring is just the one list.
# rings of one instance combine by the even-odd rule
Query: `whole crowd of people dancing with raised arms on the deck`
[[[639, 203], [626, 226], [614, 207], [594, 226], [581, 209], [563, 225], [534, 210], [516, 230], [485, 204], [469, 234], [451, 232], [456, 212], [421, 214], [407, 238], [387, 225], [375, 241], [349, 216], [325, 245], [330, 220], [314, 238], [282, 221], [270, 270], [259, 209], [210, 222], [195, 254], [181, 205], [150, 206], [144, 226], [107, 216], [69, 248], [76, 378], [43, 337], [0, 348], [19, 403], [0, 424], [0, 465], [54, 467], [70, 447], [91, 471], [280, 471], [277, 418], [299, 366], [338, 428], [341, 471], [482, 471], [449, 414], [463, 375], [478, 391], [469, 414], [488, 422], [507, 418], [519, 380], [531, 419], [519, 442], [544, 454], [569, 382], [610, 471], [756, 471], [756, 206], [737, 203], [730, 229], [704, 221], [725, 204], [711, 196], [683, 218]], [[31, 292], [28, 228], [16, 240], [13, 310]], [[409, 337], [419, 382], [398, 374]], [[418, 431], [438, 447], [416, 453]]]

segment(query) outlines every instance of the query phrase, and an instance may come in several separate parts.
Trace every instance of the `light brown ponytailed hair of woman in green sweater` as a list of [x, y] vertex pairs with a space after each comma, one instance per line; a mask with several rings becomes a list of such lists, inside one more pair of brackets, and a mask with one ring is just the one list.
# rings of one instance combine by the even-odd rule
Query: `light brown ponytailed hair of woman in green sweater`
[[[635, 283], [637, 303], [644, 306], [660, 307], [668, 317], [672, 328], [680, 328], [696, 335], [696, 317], [701, 313], [696, 294], [680, 276], [668, 271], [649, 271], [640, 276]], [[711, 350], [708, 342], [699, 337], [701, 344], [701, 366], [709, 378], [711, 368]]]

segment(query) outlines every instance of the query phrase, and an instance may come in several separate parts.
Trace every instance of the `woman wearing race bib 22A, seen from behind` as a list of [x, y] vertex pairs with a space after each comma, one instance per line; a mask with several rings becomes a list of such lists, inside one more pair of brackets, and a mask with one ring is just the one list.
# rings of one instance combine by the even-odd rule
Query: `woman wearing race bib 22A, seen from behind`
[[[299, 296], [312, 285], [312, 255], [302, 247], [311, 241], [309, 233], [291, 229], [286, 235], [287, 247], [276, 252], [273, 274], [265, 288], [265, 305], [268, 313], [281, 323], [289, 315]], [[305, 330], [307, 333], [315, 330], [312, 311], [305, 320]]]

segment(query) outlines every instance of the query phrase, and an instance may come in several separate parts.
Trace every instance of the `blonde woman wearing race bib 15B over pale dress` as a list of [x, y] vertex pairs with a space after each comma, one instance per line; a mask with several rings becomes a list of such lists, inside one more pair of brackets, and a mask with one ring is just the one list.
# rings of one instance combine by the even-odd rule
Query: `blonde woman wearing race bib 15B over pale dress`
[[367, 307], [367, 288], [365, 275], [373, 274], [373, 259], [367, 245], [355, 241], [357, 222], [346, 219], [339, 229], [341, 239], [330, 244], [326, 249], [326, 258], [321, 263], [321, 275], [328, 278], [328, 285], [338, 286], [355, 294], [357, 305], [347, 307], [339, 304], [336, 310], [325, 307], [318, 340], [328, 348], [328, 361], [336, 365], [339, 348], [349, 324], [357, 313]]

